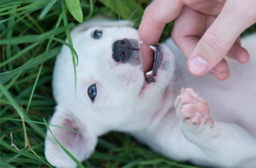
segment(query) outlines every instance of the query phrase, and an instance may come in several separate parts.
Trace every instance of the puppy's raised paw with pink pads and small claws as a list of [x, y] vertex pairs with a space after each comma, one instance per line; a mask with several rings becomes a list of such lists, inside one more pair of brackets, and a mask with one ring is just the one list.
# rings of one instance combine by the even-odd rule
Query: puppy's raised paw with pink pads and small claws
[[198, 130], [199, 127], [204, 129], [214, 125], [213, 120], [209, 118], [207, 101], [198, 97], [195, 90], [191, 88], [180, 90], [180, 95], [175, 100], [175, 108], [177, 117], [189, 130]]

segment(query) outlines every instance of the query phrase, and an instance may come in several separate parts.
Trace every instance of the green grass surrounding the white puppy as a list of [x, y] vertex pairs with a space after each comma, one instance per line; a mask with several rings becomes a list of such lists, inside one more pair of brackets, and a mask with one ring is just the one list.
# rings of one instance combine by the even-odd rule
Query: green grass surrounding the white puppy
[[[70, 29], [96, 14], [140, 23], [150, 0], [81, 0], [81, 11], [62, 0], [0, 2], [0, 167], [51, 167], [44, 156], [44, 138], [54, 112], [52, 68], [61, 45], [70, 47], [74, 70], [79, 62]], [[76, 4], [79, 7], [79, 4]], [[72, 14], [70, 14], [69, 10]], [[75, 18], [77, 19], [75, 19]], [[169, 37], [169, 23], [161, 41]], [[256, 25], [243, 35], [256, 32]], [[68, 37], [68, 43], [64, 39]], [[44, 120], [45, 119], [45, 120]], [[12, 138], [10, 134], [12, 133]], [[16, 146], [20, 151], [11, 146]], [[79, 163], [80, 164], [80, 163]], [[155, 153], [125, 133], [99, 138], [84, 167], [192, 167]]]

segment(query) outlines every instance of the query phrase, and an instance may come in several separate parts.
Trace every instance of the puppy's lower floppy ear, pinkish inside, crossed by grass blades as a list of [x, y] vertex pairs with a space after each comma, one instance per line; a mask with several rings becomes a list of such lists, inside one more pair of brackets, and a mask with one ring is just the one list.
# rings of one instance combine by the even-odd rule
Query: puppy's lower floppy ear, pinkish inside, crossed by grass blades
[[[91, 134], [70, 110], [57, 106], [50, 123], [81, 133], [50, 126], [55, 138], [80, 162], [93, 153], [97, 141], [96, 135]], [[61, 149], [49, 130], [45, 141], [45, 156], [48, 162], [56, 167], [76, 167], [76, 163]]]

